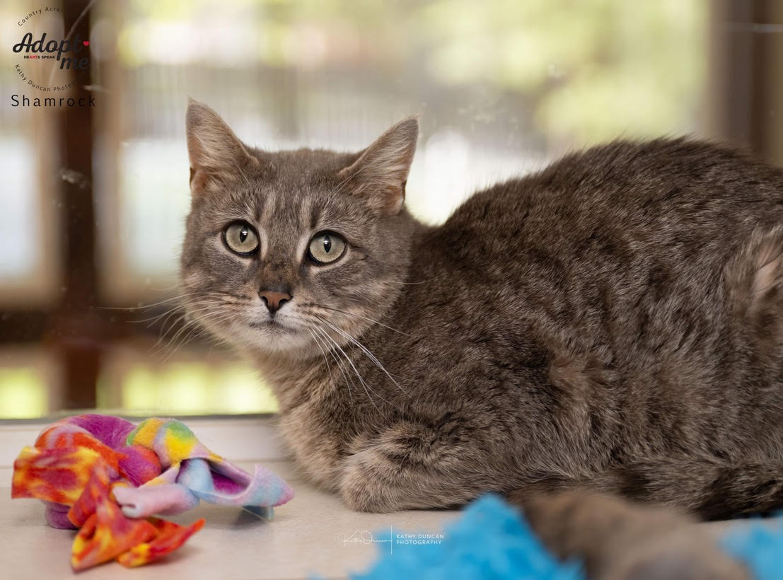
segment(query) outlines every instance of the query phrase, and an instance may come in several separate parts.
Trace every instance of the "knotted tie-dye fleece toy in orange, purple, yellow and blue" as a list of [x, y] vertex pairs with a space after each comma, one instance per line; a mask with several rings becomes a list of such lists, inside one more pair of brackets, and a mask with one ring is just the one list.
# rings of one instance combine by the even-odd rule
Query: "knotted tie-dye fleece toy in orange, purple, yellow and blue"
[[247, 474], [201, 445], [174, 419], [138, 426], [115, 416], [80, 415], [52, 423], [13, 465], [13, 498], [38, 498], [53, 528], [79, 528], [74, 571], [117, 560], [147, 564], [171, 553], [204, 525], [152, 517], [182, 513], [200, 500], [269, 513], [294, 496], [262, 466]]

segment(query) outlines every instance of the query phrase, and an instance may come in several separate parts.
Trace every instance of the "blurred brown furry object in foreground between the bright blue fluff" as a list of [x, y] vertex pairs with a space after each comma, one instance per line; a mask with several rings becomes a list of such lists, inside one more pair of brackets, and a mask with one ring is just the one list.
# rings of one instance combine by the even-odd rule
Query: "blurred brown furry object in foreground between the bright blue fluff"
[[588, 578], [750, 578], [709, 531], [671, 510], [576, 491], [532, 495], [523, 511], [547, 548], [583, 561]]

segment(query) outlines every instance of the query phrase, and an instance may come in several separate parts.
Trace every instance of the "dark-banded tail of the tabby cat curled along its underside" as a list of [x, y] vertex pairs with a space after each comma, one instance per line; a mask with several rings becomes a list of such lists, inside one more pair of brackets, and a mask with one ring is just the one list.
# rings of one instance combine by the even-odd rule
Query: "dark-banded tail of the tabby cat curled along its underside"
[[538, 492], [573, 489], [668, 506], [702, 520], [727, 520], [783, 510], [783, 462], [729, 464], [713, 458], [642, 459], [586, 480], [543, 479], [509, 497], [521, 505]]

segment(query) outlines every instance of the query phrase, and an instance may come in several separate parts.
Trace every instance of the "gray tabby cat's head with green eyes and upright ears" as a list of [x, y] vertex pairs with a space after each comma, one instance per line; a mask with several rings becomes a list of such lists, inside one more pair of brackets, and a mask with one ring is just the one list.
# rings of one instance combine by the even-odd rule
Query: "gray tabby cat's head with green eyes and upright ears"
[[181, 277], [194, 323], [244, 351], [299, 354], [390, 308], [409, 264], [415, 118], [359, 153], [257, 150], [195, 101], [186, 124]]

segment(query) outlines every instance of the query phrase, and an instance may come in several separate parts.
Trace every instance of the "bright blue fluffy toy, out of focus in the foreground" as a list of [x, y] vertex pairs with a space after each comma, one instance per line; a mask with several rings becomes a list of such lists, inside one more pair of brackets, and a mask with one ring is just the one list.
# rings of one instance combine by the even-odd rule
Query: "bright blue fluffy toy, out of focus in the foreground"
[[[497, 495], [485, 495], [465, 507], [441, 536], [373, 536], [379, 557], [354, 580], [428, 578], [454, 580], [584, 580], [579, 562], [556, 560], [536, 538], [525, 518]], [[388, 542], [393, 542], [391, 549]], [[783, 518], [742, 521], [731, 526], [720, 546], [745, 563], [757, 580], [783, 578]]]

